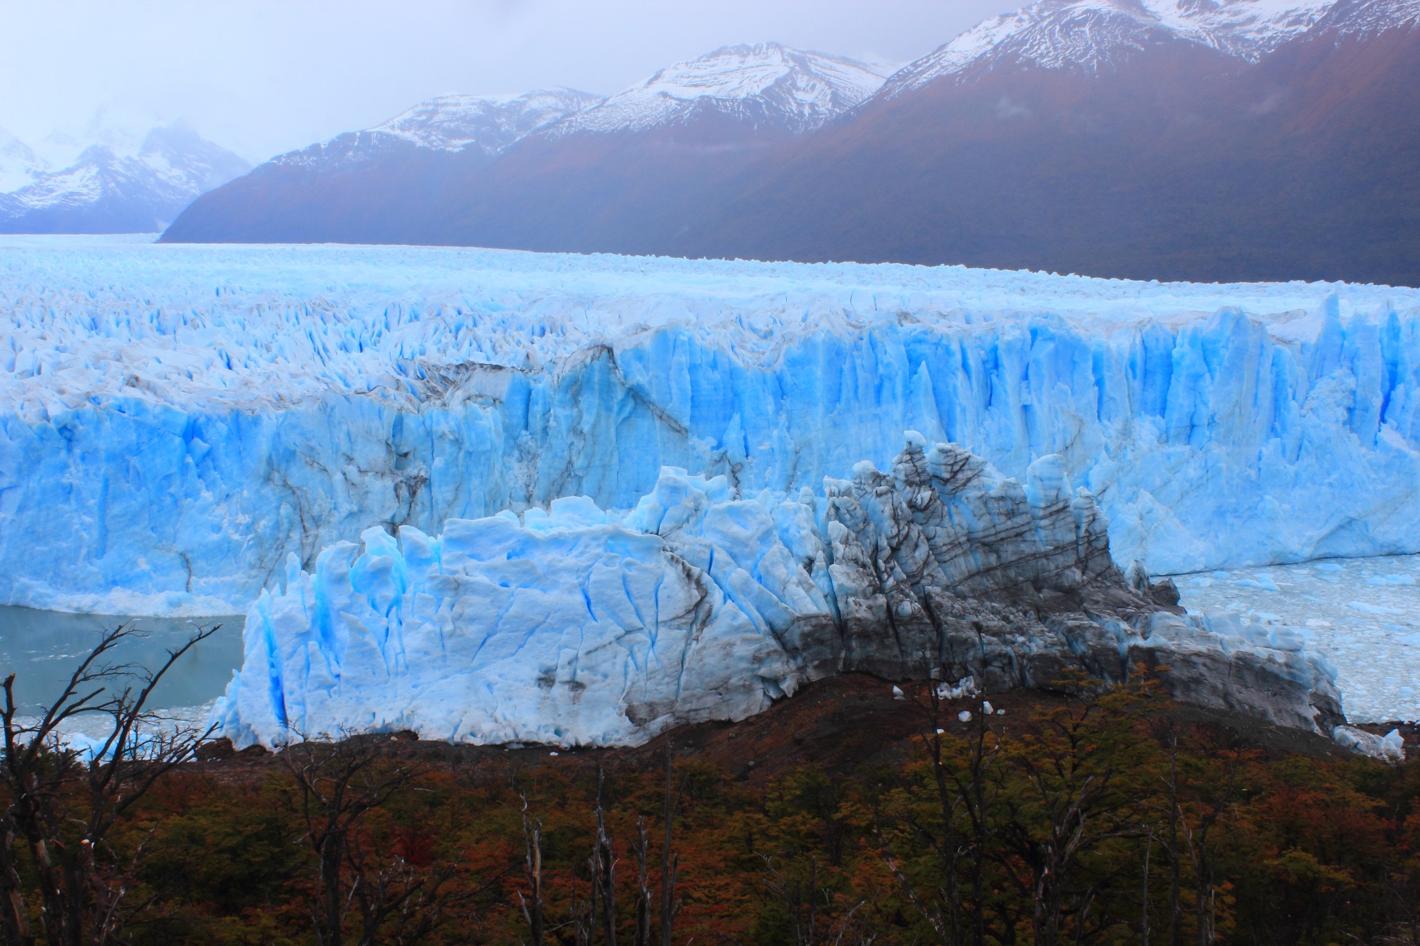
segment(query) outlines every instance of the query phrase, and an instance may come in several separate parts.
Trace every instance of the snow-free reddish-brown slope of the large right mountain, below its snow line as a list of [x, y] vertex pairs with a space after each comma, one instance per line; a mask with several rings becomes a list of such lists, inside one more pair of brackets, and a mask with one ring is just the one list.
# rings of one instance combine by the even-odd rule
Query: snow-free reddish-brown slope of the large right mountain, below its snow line
[[933, 82], [807, 142], [677, 251], [1414, 285], [1416, 40], [1318, 31], [1258, 67], [1177, 44], [1100, 75]]

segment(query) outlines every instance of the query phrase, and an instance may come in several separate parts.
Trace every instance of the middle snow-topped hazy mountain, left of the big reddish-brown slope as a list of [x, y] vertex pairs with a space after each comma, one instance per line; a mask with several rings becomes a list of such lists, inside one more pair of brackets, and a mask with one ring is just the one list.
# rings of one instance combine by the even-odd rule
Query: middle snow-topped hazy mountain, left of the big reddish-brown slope
[[[562, 223], [605, 237], [604, 210], [680, 228], [672, 207], [843, 115], [886, 72], [765, 43], [670, 65], [605, 101], [572, 89], [442, 96], [261, 165], [196, 201], [163, 238], [504, 243], [507, 220], [514, 243], [547, 245]], [[660, 238], [633, 235], [642, 248]], [[582, 235], [552, 245], [594, 248]]]

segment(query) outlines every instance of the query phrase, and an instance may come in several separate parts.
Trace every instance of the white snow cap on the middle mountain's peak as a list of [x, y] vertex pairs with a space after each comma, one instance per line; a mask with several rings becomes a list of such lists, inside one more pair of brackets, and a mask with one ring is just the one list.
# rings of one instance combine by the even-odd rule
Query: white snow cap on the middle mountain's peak
[[727, 45], [667, 65], [552, 132], [642, 132], [711, 113], [804, 132], [861, 104], [889, 72], [892, 67], [778, 43]]

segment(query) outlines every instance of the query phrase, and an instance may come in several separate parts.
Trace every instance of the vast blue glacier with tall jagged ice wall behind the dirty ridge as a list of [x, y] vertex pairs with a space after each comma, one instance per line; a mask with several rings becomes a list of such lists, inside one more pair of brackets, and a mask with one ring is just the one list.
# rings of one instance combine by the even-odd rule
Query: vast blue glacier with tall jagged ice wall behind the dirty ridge
[[0, 601], [241, 610], [372, 523], [663, 465], [790, 495], [905, 430], [1048, 454], [1122, 562], [1420, 550], [1420, 294], [355, 247], [0, 248]]

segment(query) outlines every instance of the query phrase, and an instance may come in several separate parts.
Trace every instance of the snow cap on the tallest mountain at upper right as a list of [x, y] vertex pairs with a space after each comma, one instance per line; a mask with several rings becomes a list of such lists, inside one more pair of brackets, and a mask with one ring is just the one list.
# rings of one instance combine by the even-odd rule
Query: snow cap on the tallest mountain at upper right
[[[1396, 0], [1402, 1], [1402, 0]], [[1309, 30], [1333, 0], [1041, 0], [991, 17], [890, 77], [893, 98], [1000, 65], [1099, 72], [1167, 43], [1257, 62]]]

